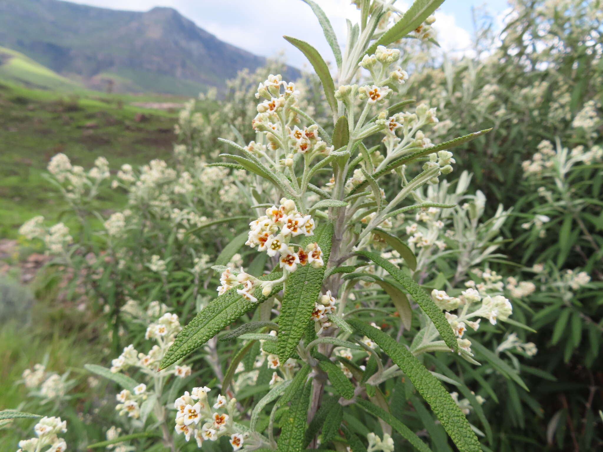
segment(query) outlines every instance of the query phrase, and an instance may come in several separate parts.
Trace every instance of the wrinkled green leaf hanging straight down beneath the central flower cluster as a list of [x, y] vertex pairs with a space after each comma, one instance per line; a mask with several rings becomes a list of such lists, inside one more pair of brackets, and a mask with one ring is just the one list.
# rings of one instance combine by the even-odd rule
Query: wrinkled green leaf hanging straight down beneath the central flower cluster
[[284, 363], [299, 344], [308, 325], [314, 303], [323, 285], [324, 269], [329, 262], [333, 225], [323, 223], [314, 230], [314, 236], [306, 237], [302, 246], [317, 242], [323, 251], [324, 265], [314, 268], [312, 265], [298, 266], [285, 282], [285, 293], [279, 316], [279, 359]]

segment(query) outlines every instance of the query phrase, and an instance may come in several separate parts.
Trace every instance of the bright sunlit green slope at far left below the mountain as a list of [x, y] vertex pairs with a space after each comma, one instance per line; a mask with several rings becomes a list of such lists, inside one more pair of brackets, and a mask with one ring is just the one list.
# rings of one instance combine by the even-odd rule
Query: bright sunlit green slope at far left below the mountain
[[24, 54], [0, 47], [0, 79], [40, 89], [74, 91], [81, 88], [75, 81], [58, 75]]

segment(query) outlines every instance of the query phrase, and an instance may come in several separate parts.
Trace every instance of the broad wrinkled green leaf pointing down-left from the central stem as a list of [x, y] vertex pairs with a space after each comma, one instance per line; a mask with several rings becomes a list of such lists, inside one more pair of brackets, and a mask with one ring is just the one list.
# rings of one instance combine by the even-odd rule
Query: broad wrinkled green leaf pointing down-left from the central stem
[[[282, 274], [271, 273], [269, 275], [259, 277], [261, 281], [274, 281], [280, 278]], [[257, 303], [245, 300], [242, 295], [236, 292], [242, 287], [241, 284], [229, 289], [223, 295], [210, 301], [206, 307], [201, 310], [197, 316], [183, 328], [160, 363], [160, 368], [165, 369], [167, 366], [175, 363], [178, 359], [185, 357], [195, 348], [201, 347], [209, 339], [215, 336], [222, 328], [232, 324], [236, 319], [241, 317], [248, 310], [257, 306], [257, 303], [263, 303], [268, 298], [273, 297], [278, 293], [282, 286], [277, 284], [273, 287], [272, 292], [267, 297], [262, 295], [262, 289], [257, 287], [254, 297], [257, 298]]]

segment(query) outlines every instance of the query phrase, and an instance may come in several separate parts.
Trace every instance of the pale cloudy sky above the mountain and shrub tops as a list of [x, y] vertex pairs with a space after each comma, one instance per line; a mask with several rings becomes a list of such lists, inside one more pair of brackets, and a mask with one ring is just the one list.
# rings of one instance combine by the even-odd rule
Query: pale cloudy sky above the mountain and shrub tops
[[[307, 64], [300, 51], [283, 39], [289, 35], [305, 40], [333, 61], [332, 52], [311, 8], [301, 0], [71, 0], [75, 3], [116, 10], [148, 11], [153, 7], [172, 7], [183, 16], [227, 43], [256, 55], [276, 57], [295, 67]], [[315, 0], [330, 19], [340, 42], [346, 36], [346, 18], [356, 22], [358, 10], [350, 0]], [[411, 0], [399, 0], [405, 9]], [[472, 7], [487, 8], [499, 16], [507, 8], [506, 0], [448, 0], [436, 11], [434, 24], [438, 42], [446, 51], [463, 53], [471, 44]]]

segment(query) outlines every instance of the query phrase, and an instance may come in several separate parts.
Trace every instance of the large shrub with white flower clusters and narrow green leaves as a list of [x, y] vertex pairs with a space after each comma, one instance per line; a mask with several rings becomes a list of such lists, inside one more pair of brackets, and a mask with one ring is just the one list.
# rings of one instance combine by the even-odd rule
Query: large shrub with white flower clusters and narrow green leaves
[[[242, 72], [224, 108], [199, 111], [215, 93], [187, 102], [171, 161], [115, 175], [103, 158], [87, 171], [63, 154], [49, 163], [75, 221], [48, 228], [34, 217], [21, 234], [41, 240], [52, 265], [75, 275], [72, 291], [106, 316], [111, 359], [84, 367], [119, 389], [96, 400], [91, 416], [103, 418], [106, 441], [90, 447], [519, 450], [508, 432], [525, 427], [522, 406], [542, 422], [524, 380], [555, 378], [535, 364], [545, 341], [532, 339], [532, 327], [555, 322], [540, 334], [565, 344], [566, 361], [584, 328], [594, 350], [587, 364], [598, 356], [598, 305], [586, 312], [580, 301], [600, 287], [589, 275], [601, 259], [587, 226], [596, 223], [596, 195], [576, 196], [575, 181], [599, 168], [600, 106], [570, 107], [560, 87], [540, 108], [550, 80], [518, 85], [515, 103], [500, 100], [494, 75], [519, 80], [545, 56], [557, 61], [515, 58], [523, 16], [479, 71], [467, 60], [434, 69], [400, 48], [435, 41], [430, 14], [441, 2], [417, 0], [407, 11], [356, 2], [361, 21], [350, 24], [344, 49], [320, 7], [306, 3], [332, 48], [334, 75], [309, 43], [286, 37], [317, 75], [293, 83], [276, 70]], [[502, 60], [520, 64], [500, 71]], [[251, 89], [249, 80], [263, 81]], [[531, 198], [496, 206], [480, 166], [458, 172], [467, 156], [450, 149], [485, 146], [487, 159], [499, 159], [500, 140], [488, 139], [482, 121], [500, 136], [526, 112], [543, 124], [566, 121], [575, 131], [568, 142], [582, 144], [535, 144], [529, 160], [515, 162], [537, 184]], [[483, 190], [472, 189], [476, 179]], [[124, 192], [127, 206], [98, 210], [104, 190]], [[513, 246], [528, 266], [503, 254], [517, 218]], [[561, 222], [563, 235], [545, 250], [540, 240], [557, 236]], [[568, 234], [589, 250], [571, 271], [562, 268], [576, 260]], [[67, 375], [37, 365], [23, 376], [32, 395], [61, 409]], [[557, 413], [549, 431], [564, 418]]]

